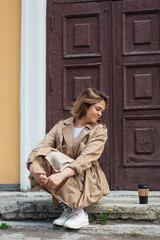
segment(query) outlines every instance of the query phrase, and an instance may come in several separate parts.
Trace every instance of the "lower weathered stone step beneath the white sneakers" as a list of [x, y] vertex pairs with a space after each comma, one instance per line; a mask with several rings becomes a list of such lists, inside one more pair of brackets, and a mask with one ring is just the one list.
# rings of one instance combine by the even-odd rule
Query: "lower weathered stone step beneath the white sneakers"
[[[0, 225], [4, 223], [0, 221]], [[159, 224], [150, 223], [115, 223], [93, 224], [78, 231], [54, 226], [49, 221], [21, 220], [5, 221], [10, 226], [9, 231], [0, 230], [1, 240], [41, 240], [41, 239], [160, 239]], [[44, 234], [43, 234], [44, 233]], [[26, 237], [25, 237], [26, 236]], [[47, 236], [49, 238], [47, 238]], [[52, 238], [50, 238], [52, 236]]]

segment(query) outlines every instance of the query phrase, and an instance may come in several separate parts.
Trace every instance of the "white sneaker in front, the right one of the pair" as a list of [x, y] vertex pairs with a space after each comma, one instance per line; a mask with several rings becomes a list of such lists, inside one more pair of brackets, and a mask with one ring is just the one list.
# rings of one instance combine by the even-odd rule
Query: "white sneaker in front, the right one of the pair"
[[72, 229], [80, 229], [89, 225], [88, 214], [80, 214], [78, 211], [74, 211], [70, 214], [66, 220], [64, 227]]

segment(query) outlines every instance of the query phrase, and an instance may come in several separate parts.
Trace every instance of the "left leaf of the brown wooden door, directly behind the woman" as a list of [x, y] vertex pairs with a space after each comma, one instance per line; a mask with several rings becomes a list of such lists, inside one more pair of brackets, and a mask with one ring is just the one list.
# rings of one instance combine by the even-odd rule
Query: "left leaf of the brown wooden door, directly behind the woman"
[[[110, 95], [109, 12], [108, 1], [47, 2], [47, 131], [70, 116], [72, 104], [83, 89], [93, 87]], [[110, 110], [103, 114], [109, 136]], [[110, 145], [111, 137], [100, 160], [109, 183]]]

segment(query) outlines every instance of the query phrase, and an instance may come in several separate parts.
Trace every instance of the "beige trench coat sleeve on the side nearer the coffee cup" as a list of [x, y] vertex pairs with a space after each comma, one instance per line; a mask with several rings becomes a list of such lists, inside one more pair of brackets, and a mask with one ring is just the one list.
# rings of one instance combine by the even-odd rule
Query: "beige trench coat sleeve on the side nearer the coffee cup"
[[105, 125], [99, 124], [94, 136], [89, 140], [80, 156], [70, 164], [70, 167], [81, 174], [84, 170], [90, 168], [92, 163], [98, 161], [107, 140], [107, 128]]

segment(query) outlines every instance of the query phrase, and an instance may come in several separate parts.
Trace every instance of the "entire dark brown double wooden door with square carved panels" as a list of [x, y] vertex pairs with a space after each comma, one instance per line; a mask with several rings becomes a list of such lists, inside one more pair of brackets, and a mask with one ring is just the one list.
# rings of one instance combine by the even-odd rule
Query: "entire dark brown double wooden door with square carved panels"
[[160, 189], [160, 1], [47, 1], [47, 131], [87, 87], [110, 96], [111, 189]]

